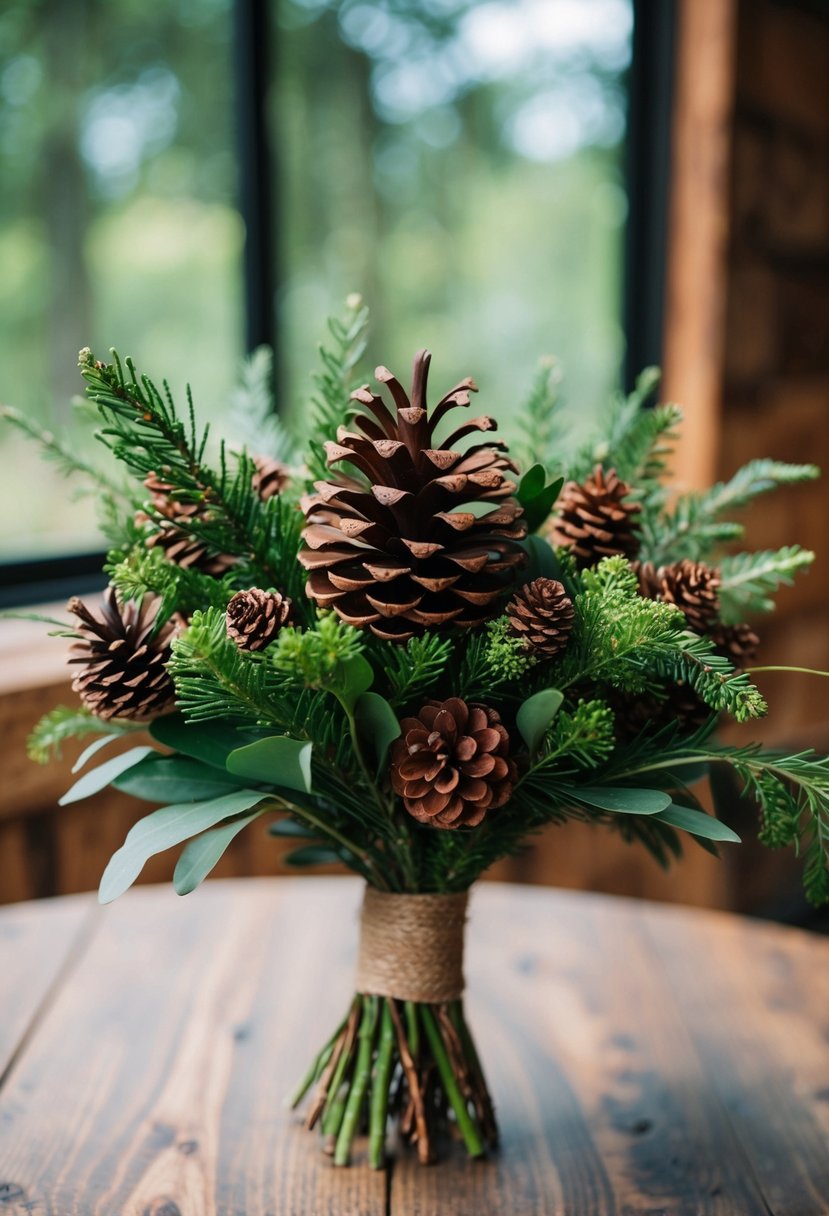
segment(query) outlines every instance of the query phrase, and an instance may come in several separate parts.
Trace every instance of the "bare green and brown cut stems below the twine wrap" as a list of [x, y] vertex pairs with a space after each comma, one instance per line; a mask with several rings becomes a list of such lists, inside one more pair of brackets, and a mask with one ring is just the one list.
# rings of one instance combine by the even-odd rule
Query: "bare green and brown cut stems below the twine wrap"
[[368, 1136], [368, 1164], [382, 1169], [390, 1116], [418, 1159], [435, 1160], [440, 1133], [455, 1130], [472, 1158], [497, 1142], [492, 1099], [463, 1013], [463, 1002], [429, 1004], [359, 993], [317, 1054], [292, 1105], [316, 1082], [305, 1120], [321, 1120], [334, 1165], [348, 1165]]

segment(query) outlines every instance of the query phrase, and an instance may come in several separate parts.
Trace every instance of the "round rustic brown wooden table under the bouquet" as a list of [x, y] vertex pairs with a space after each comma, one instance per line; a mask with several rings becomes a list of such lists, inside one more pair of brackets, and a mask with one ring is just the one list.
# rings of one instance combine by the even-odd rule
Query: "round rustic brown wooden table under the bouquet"
[[495, 884], [467, 970], [502, 1150], [335, 1170], [283, 1097], [349, 1000], [359, 899], [265, 879], [0, 910], [0, 1212], [829, 1212], [829, 940]]

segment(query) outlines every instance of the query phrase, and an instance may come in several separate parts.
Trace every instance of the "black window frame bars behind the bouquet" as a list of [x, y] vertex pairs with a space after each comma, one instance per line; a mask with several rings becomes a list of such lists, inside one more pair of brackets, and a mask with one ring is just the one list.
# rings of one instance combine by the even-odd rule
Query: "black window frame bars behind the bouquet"
[[[643, 367], [661, 359], [676, 2], [632, 0], [621, 302], [627, 389]], [[270, 137], [267, 113], [275, 30], [267, 0], [233, 0], [231, 19], [237, 207], [246, 231], [244, 347], [252, 351], [263, 344], [275, 349], [278, 339], [280, 216], [273, 171], [278, 148]], [[275, 368], [278, 365], [275, 358]], [[106, 552], [95, 551], [0, 562], [0, 609], [98, 591], [106, 584], [105, 559]]]

